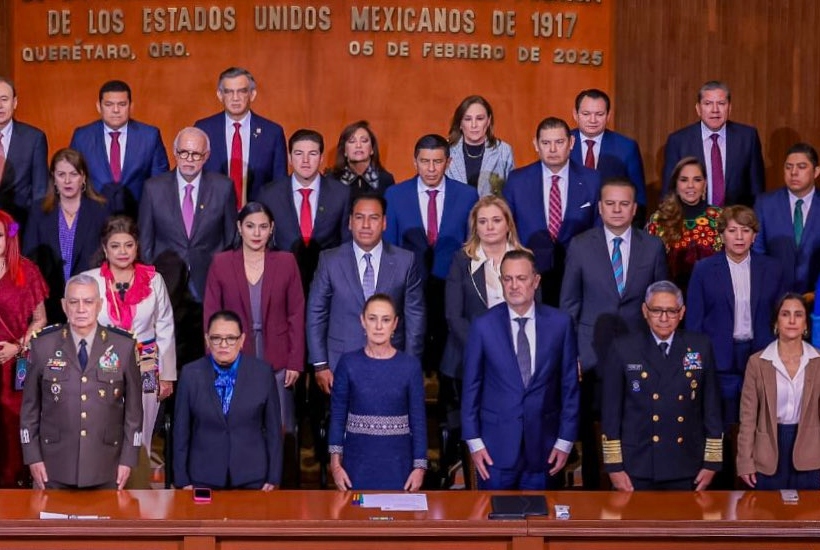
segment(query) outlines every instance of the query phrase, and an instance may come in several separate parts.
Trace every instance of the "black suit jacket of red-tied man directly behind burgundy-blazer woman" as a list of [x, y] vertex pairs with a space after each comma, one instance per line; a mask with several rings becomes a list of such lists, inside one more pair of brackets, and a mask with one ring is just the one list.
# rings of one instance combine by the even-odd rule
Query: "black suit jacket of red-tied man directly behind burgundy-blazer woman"
[[302, 240], [299, 228], [299, 211], [293, 200], [291, 178], [269, 183], [259, 193], [257, 200], [273, 212], [273, 238], [276, 247], [296, 256], [296, 263], [302, 274], [302, 288], [307, 293], [319, 264], [319, 253], [350, 240], [350, 189], [335, 179], [321, 176], [319, 206], [307, 245]]

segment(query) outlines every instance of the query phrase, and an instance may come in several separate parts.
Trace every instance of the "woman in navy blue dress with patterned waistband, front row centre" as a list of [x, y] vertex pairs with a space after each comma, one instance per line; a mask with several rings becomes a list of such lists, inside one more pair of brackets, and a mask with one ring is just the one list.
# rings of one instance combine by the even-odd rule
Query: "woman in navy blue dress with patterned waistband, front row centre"
[[339, 360], [330, 394], [333, 481], [340, 491], [417, 491], [427, 469], [421, 364], [390, 343], [398, 317], [389, 296], [371, 296], [361, 321], [367, 343]]

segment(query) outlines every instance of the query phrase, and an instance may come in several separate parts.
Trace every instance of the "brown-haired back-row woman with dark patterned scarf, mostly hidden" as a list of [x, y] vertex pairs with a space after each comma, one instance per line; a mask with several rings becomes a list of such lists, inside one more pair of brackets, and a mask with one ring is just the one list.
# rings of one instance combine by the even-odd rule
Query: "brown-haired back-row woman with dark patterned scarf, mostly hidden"
[[350, 187], [350, 199], [359, 195], [384, 195], [396, 183], [393, 174], [382, 166], [376, 134], [366, 120], [349, 124], [336, 144], [336, 161], [331, 175]]

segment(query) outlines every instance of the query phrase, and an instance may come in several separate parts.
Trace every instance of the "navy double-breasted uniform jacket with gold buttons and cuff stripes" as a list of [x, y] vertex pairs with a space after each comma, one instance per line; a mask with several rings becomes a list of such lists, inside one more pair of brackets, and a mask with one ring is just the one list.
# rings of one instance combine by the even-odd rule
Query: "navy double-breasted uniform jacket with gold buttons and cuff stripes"
[[720, 470], [720, 388], [712, 345], [676, 331], [664, 356], [649, 331], [615, 340], [603, 369], [604, 467], [655, 482]]

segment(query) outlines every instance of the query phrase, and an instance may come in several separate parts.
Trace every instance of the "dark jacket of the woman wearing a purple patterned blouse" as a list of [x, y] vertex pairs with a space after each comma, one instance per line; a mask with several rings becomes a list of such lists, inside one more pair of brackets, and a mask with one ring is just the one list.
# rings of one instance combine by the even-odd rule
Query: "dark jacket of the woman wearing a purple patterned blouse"
[[[66, 281], [60, 252], [59, 213], [59, 204], [51, 212], [43, 212], [39, 205], [35, 206], [29, 217], [29, 230], [23, 240], [23, 253], [37, 264], [48, 284], [46, 316], [50, 323], [65, 321], [65, 313], [60, 305]], [[87, 197], [81, 199], [74, 221], [77, 230], [71, 254], [72, 276], [91, 268], [92, 257], [100, 248], [100, 236], [107, 218], [108, 209], [105, 205]]]

